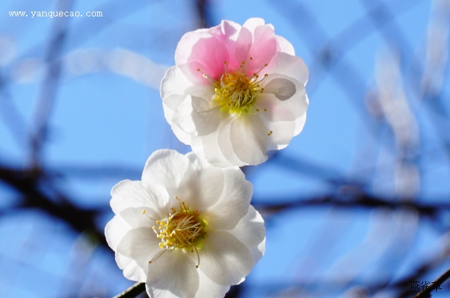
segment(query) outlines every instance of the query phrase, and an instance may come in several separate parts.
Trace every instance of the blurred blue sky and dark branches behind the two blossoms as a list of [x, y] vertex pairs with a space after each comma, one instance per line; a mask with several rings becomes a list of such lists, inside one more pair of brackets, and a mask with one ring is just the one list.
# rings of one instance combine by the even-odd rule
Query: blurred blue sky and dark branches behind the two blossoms
[[110, 189], [155, 150], [190, 151], [159, 95], [177, 42], [255, 16], [310, 68], [310, 107], [244, 168], [266, 254], [227, 297], [409, 297], [450, 267], [450, 1], [2, 0], [0, 297], [132, 285], [103, 236]]

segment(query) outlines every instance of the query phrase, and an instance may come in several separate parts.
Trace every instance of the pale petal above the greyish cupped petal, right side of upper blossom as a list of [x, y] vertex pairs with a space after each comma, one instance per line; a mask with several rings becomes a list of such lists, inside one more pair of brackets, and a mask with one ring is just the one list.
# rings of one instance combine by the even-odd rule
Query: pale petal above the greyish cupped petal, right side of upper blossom
[[288, 53], [277, 52], [272, 61], [264, 68], [264, 72], [270, 74], [283, 74], [306, 85], [309, 70], [301, 57], [292, 56]]

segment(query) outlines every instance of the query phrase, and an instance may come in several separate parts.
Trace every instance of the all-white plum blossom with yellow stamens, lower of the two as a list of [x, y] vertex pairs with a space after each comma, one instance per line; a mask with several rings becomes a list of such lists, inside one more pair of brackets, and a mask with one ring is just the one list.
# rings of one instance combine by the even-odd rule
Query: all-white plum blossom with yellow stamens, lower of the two
[[265, 251], [252, 192], [238, 167], [158, 150], [142, 180], [112, 189], [106, 240], [123, 275], [145, 282], [150, 297], [223, 297]]

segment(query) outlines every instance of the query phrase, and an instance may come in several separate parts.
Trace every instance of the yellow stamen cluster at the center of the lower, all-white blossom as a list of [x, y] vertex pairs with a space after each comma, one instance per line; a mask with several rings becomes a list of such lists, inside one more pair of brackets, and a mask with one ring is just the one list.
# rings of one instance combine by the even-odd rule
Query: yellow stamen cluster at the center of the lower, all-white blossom
[[[178, 200], [177, 197], [175, 199]], [[150, 263], [159, 258], [166, 250], [176, 248], [190, 248], [190, 252], [197, 252], [197, 259], [200, 263], [197, 249], [201, 248], [201, 241], [205, 239], [207, 223], [201, 219], [198, 211], [190, 211], [184, 202], [180, 202], [178, 211], [172, 208], [168, 217], [157, 220], [156, 223], [160, 226], [158, 229], [153, 226], [152, 229], [158, 239], [161, 239], [160, 248], [164, 251], [150, 260]], [[198, 268], [199, 264], [196, 267]]]

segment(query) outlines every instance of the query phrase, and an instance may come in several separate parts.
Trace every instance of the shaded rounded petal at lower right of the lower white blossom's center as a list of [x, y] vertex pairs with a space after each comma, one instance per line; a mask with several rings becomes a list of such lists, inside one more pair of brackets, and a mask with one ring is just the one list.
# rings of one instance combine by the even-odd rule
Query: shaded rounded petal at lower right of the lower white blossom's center
[[249, 249], [225, 231], [208, 234], [199, 254], [199, 269], [223, 286], [243, 282], [253, 267]]

